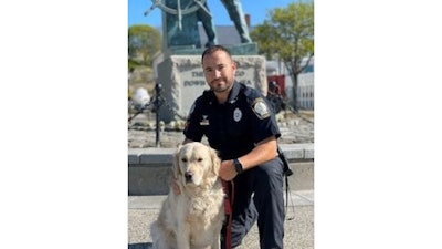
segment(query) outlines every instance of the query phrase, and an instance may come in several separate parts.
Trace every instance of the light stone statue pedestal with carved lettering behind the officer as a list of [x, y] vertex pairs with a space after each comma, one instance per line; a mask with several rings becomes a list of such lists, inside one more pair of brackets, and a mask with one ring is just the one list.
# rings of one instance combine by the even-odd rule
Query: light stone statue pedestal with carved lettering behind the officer
[[[179, 116], [186, 117], [194, 100], [209, 89], [201, 68], [201, 53], [168, 55], [158, 63], [156, 83], [162, 85], [162, 96], [166, 98], [166, 103], [159, 108], [159, 114], [165, 123], [180, 120]], [[233, 60], [236, 62], [236, 81], [257, 89], [266, 95], [265, 58], [233, 55]]]

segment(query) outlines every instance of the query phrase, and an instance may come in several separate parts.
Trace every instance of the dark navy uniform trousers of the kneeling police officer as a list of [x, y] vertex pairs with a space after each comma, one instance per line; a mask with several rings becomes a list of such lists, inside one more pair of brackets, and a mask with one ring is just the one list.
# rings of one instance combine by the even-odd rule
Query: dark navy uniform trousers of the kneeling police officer
[[[284, 238], [283, 163], [276, 157], [234, 178], [232, 248], [257, 220], [261, 249], [282, 249]], [[225, 236], [225, 227], [222, 237]], [[224, 242], [222, 248], [225, 249]]]

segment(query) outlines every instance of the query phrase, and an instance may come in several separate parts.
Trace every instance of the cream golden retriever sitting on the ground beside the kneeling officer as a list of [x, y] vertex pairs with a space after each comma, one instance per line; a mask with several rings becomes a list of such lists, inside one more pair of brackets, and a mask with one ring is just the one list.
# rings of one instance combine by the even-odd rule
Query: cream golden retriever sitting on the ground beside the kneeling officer
[[170, 189], [151, 226], [155, 249], [219, 249], [224, 193], [218, 177], [221, 160], [201, 143], [180, 145], [173, 177], [181, 194]]

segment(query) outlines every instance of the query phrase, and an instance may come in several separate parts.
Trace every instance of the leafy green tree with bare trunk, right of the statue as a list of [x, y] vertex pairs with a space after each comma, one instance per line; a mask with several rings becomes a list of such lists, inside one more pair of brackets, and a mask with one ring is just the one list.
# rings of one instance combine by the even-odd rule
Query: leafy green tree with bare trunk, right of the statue
[[[259, 52], [267, 59], [278, 59], [293, 81], [294, 108], [297, 110], [298, 74], [314, 55], [314, 4], [293, 2], [286, 8], [270, 11], [270, 20], [256, 25], [251, 37]], [[307, 58], [306, 63], [302, 63]]]

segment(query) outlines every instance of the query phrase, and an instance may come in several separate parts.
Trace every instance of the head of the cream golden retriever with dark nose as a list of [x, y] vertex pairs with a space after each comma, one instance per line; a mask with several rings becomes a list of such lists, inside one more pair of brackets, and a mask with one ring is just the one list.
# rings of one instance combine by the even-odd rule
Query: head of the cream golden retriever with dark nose
[[175, 153], [173, 177], [183, 186], [212, 185], [220, 165], [217, 151], [199, 142], [188, 143]]

